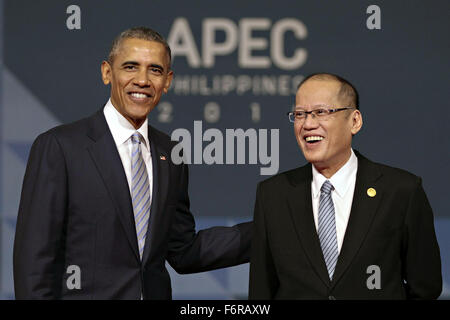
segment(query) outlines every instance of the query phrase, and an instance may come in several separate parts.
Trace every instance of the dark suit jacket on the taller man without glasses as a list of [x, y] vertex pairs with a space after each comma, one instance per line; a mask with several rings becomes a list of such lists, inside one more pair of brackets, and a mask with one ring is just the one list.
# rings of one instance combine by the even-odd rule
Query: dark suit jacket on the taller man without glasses
[[[129, 187], [103, 115], [56, 127], [34, 142], [14, 242], [18, 299], [170, 299], [167, 260], [179, 273], [249, 261], [251, 224], [195, 232], [188, 168], [149, 126], [153, 200], [142, 262]], [[161, 156], [165, 157], [161, 159]], [[81, 289], [66, 285], [70, 265]]]

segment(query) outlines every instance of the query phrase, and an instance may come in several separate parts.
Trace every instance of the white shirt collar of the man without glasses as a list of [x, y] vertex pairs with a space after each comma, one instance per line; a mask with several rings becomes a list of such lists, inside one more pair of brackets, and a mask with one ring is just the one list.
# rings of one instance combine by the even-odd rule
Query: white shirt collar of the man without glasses
[[145, 119], [145, 122], [141, 125], [141, 127], [136, 130], [133, 125], [119, 111], [117, 111], [111, 103], [111, 99], [109, 99], [106, 103], [103, 113], [117, 147], [130, 139], [136, 131], [144, 137], [145, 147], [149, 147], [148, 119]]

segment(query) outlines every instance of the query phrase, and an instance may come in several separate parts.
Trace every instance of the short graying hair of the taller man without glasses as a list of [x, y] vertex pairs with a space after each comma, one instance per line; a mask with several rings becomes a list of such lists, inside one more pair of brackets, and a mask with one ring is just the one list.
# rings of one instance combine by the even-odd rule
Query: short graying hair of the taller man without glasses
[[114, 57], [117, 55], [120, 45], [122, 44], [122, 41], [125, 39], [142, 39], [147, 41], [156, 41], [164, 45], [164, 48], [166, 48], [167, 55], [169, 56], [169, 69], [170, 64], [172, 60], [172, 53], [170, 51], [170, 47], [167, 44], [166, 39], [164, 39], [163, 36], [161, 36], [158, 32], [156, 32], [153, 29], [147, 28], [147, 27], [134, 27], [127, 29], [123, 32], [121, 32], [113, 41], [111, 45], [111, 50], [108, 54], [108, 62], [112, 63], [114, 60]]

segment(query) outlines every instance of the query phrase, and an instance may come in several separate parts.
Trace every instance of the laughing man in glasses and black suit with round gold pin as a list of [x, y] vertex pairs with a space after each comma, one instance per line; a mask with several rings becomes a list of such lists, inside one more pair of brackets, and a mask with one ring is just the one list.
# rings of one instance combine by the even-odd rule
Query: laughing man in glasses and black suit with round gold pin
[[421, 179], [351, 148], [355, 88], [314, 74], [289, 113], [309, 164], [257, 188], [250, 299], [435, 299], [442, 290]]

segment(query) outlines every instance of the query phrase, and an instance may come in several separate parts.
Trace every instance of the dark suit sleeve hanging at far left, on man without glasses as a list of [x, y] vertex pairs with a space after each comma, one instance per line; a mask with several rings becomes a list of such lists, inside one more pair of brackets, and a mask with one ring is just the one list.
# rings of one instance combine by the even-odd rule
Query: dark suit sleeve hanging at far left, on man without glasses
[[16, 299], [55, 299], [62, 279], [65, 160], [56, 138], [40, 135], [30, 151], [14, 239]]

